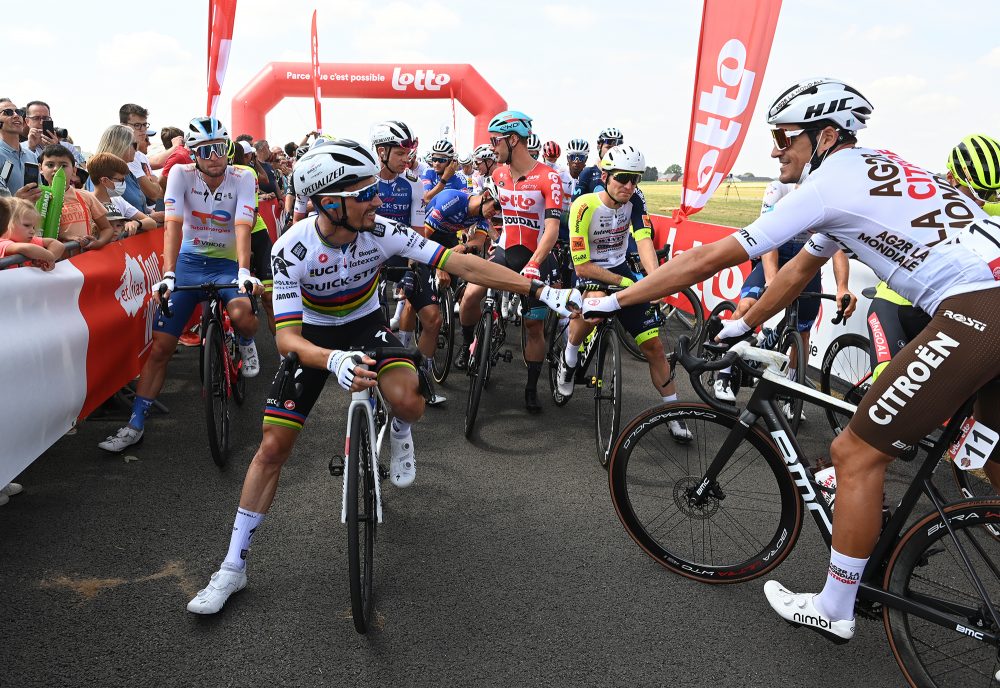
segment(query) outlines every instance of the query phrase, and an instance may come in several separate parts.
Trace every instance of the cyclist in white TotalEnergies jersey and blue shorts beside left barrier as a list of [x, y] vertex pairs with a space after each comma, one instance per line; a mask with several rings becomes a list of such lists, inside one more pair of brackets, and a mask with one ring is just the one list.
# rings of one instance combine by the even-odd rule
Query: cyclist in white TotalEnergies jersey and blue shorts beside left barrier
[[[233, 288], [221, 294], [240, 337], [243, 374], [254, 377], [260, 371], [251, 339], [257, 331], [257, 317], [251, 312], [250, 301], [239, 292], [248, 281], [253, 283], [254, 293], [264, 291], [260, 280], [250, 276], [256, 184], [248, 170], [228, 164], [229, 134], [214, 117], [191, 120], [185, 143], [195, 162], [174, 166], [167, 179], [163, 280], [153, 285], [153, 293], [161, 285], [170, 296], [176, 284], [231, 282]], [[168, 318], [161, 313], [153, 325], [152, 348], [136, 386], [132, 415], [123, 428], [98, 445], [101, 449], [120, 452], [142, 439], [146, 413], [163, 387], [177, 338], [194, 307], [206, 298], [200, 291], [177, 292], [170, 298], [173, 315]]]

